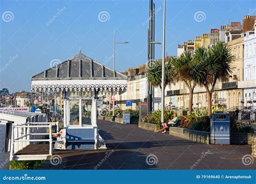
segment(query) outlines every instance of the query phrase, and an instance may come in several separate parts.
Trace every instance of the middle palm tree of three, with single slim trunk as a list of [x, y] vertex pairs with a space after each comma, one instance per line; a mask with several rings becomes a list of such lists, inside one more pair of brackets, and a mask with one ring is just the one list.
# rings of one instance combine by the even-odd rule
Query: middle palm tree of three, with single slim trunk
[[204, 67], [200, 66], [203, 63], [196, 62], [193, 59], [191, 52], [184, 52], [179, 58], [171, 59], [173, 65], [173, 73], [175, 80], [183, 81], [190, 91], [190, 101], [188, 104], [188, 113], [192, 112], [193, 106], [193, 91], [197, 83], [204, 77]]

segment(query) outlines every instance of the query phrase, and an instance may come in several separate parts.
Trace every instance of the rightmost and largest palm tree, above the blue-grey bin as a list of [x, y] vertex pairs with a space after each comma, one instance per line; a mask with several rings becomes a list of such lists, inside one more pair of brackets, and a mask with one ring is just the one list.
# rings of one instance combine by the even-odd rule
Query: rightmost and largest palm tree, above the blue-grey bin
[[208, 98], [208, 116], [212, 113], [212, 94], [215, 84], [218, 80], [224, 82], [228, 80], [232, 72], [232, 60], [230, 48], [221, 42], [216, 43], [212, 48], [198, 48], [195, 52], [195, 60], [204, 68], [204, 77], [200, 79], [199, 84], [204, 86]]

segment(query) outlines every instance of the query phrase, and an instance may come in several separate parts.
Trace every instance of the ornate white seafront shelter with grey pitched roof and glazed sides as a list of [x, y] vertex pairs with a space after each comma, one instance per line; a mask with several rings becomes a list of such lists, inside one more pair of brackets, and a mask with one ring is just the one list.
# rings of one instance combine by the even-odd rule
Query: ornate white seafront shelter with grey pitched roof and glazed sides
[[98, 95], [118, 94], [126, 89], [127, 77], [78, 53], [59, 65], [32, 76], [32, 90], [60, 93], [63, 97], [63, 149], [105, 148], [98, 133]]

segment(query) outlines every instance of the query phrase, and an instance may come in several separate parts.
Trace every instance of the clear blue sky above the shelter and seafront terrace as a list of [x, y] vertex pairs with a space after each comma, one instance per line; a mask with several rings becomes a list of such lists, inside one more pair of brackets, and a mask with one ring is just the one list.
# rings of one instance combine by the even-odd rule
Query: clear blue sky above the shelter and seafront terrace
[[[244, 15], [255, 15], [255, 2], [167, 0], [166, 53], [176, 55], [178, 44], [211, 28], [219, 29], [228, 19], [241, 22]], [[163, 0], [155, 4], [156, 40], [162, 42]], [[53, 59], [71, 58], [79, 46], [82, 53], [112, 68], [114, 29], [117, 41], [129, 41], [117, 45], [116, 69], [143, 65], [147, 61], [148, 9], [149, 0], [1, 0], [0, 88], [30, 91], [31, 76], [50, 68]], [[103, 15], [100, 21], [99, 13], [104, 11], [107, 19]], [[198, 11], [205, 13], [202, 22], [194, 19]], [[158, 58], [160, 45], [156, 45]]]

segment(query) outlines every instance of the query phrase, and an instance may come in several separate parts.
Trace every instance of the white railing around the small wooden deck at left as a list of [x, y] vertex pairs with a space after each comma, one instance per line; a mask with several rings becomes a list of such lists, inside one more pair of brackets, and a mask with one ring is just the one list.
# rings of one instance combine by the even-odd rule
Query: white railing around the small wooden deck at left
[[[52, 126], [56, 126], [56, 131], [52, 132]], [[48, 132], [49, 130], [49, 132]], [[52, 135], [59, 132], [58, 122], [28, 122], [19, 125], [12, 125], [10, 160], [41, 160], [52, 155]], [[45, 137], [49, 135], [49, 139]], [[40, 144], [49, 142], [49, 154], [24, 154], [17, 155], [18, 151], [23, 150], [30, 144]]]

